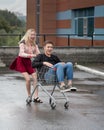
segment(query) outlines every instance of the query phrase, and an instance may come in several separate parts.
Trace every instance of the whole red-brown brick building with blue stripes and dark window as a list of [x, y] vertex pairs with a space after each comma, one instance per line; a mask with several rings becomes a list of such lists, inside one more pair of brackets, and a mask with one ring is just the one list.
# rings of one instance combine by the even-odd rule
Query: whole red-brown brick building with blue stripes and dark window
[[28, 28], [40, 43], [48, 34], [56, 46], [104, 46], [104, 0], [27, 0]]

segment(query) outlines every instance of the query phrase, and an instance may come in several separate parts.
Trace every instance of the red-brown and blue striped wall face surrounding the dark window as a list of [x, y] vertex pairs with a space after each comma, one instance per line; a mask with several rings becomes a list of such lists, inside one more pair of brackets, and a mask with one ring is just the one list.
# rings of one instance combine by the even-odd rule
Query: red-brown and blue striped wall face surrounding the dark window
[[[73, 9], [94, 8], [94, 42], [95, 46], [104, 46], [104, 1], [103, 0], [58, 0], [56, 2], [56, 32], [58, 34], [75, 34], [73, 27]], [[100, 34], [100, 35], [99, 35]], [[70, 36], [71, 37], [71, 36]], [[72, 37], [70, 39], [71, 46], [91, 46], [92, 38]], [[57, 45], [67, 46], [66, 37], [57, 37]]]

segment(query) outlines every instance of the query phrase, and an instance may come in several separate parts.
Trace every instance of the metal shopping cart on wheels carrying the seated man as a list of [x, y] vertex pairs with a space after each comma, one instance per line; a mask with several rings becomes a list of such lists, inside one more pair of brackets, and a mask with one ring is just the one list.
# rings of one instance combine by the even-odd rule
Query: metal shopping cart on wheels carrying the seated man
[[[26, 100], [27, 104], [31, 103], [32, 96], [33, 96], [36, 88], [40, 87], [49, 96], [49, 104], [50, 104], [51, 108], [52, 109], [56, 108], [56, 99], [53, 97], [53, 94], [54, 94], [56, 88], [58, 88], [58, 90], [60, 92], [60, 86], [57, 82], [56, 70], [54, 69], [54, 71], [52, 71], [52, 69], [54, 69], [54, 68], [49, 68], [47, 66], [43, 66], [43, 67], [41, 67], [41, 69], [37, 69], [38, 82], [37, 82], [36, 87], [33, 89], [32, 93], [31, 93], [30, 99]], [[51, 93], [49, 93], [46, 90], [45, 86], [52, 86]], [[63, 97], [65, 99], [64, 107], [65, 107], [65, 109], [68, 109], [68, 107], [69, 107], [68, 97], [67, 97], [66, 93], [64, 93], [64, 92], [60, 92], [60, 93], [63, 95]]]

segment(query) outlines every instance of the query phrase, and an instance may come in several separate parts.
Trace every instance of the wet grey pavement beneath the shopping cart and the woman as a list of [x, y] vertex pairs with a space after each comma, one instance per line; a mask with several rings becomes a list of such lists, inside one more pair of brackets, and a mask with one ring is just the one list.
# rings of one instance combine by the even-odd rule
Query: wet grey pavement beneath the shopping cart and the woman
[[[103, 67], [102, 67], [103, 71]], [[0, 130], [103, 130], [104, 78], [75, 69], [73, 85], [77, 92], [67, 92], [69, 108], [55, 91], [56, 109], [39, 88], [42, 104], [26, 105], [25, 81], [19, 73], [0, 74]], [[46, 87], [51, 91], [51, 86]]]

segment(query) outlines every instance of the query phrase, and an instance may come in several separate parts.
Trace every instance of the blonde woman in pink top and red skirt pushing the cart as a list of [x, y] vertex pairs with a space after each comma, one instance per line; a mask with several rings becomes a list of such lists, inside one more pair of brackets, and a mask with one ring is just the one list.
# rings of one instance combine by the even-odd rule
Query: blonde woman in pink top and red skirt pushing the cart
[[[19, 42], [19, 55], [10, 65], [10, 69], [16, 70], [22, 73], [26, 80], [26, 89], [28, 98], [26, 101], [31, 101], [31, 80], [33, 79], [33, 86], [37, 83], [36, 69], [32, 68], [31, 58], [36, 57], [40, 53], [38, 46], [36, 45], [36, 32], [34, 29], [29, 29], [25, 33], [24, 37]], [[42, 103], [38, 97], [38, 88], [34, 93], [33, 102]]]

